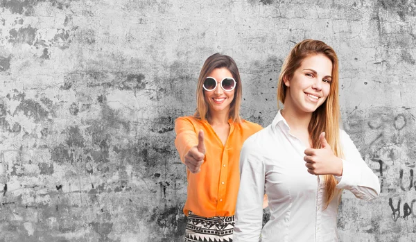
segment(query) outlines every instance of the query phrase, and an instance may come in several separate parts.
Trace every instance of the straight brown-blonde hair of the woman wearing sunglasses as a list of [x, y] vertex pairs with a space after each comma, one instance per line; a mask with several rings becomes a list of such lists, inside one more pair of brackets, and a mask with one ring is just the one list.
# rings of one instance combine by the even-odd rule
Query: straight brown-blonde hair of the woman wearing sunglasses
[[209, 117], [209, 108], [207, 102], [205, 101], [204, 88], [202, 86], [204, 85], [205, 78], [207, 78], [207, 76], [217, 68], [227, 68], [228, 71], [231, 72], [232, 78], [236, 80], [234, 99], [229, 107], [229, 119], [232, 119], [234, 123], [240, 123], [240, 105], [243, 89], [241, 88], [239, 69], [237, 68], [236, 62], [231, 57], [220, 53], [215, 53], [214, 55], [209, 56], [202, 66], [200, 76], [198, 78], [198, 85], [196, 86], [196, 111], [193, 116], [201, 120], [206, 120]]

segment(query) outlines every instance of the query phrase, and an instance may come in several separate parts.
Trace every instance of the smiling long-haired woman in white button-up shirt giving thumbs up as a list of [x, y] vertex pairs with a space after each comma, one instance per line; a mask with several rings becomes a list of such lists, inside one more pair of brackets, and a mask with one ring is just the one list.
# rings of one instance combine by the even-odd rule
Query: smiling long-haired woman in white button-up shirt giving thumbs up
[[[338, 58], [318, 40], [293, 47], [281, 67], [284, 108], [241, 150], [235, 241], [338, 241], [341, 190], [376, 198], [379, 180], [339, 128]], [[268, 196], [262, 228], [259, 202]]]

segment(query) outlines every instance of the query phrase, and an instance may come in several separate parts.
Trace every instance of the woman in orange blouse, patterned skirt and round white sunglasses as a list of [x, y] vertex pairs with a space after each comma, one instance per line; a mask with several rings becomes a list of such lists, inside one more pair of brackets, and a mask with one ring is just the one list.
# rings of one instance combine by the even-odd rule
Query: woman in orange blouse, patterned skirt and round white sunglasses
[[195, 114], [175, 121], [175, 146], [187, 166], [185, 241], [232, 241], [241, 146], [261, 130], [241, 119], [241, 92], [236, 62], [211, 55], [198, 78]]

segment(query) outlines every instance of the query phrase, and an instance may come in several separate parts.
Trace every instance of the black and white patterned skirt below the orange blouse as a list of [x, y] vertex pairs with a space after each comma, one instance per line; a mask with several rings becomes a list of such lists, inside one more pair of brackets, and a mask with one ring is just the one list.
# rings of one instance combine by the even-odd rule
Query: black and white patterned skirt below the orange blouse
[[234, 231], [234, 216], [205, 218], [188, 213], [185, 242], [189, 241], [232, 241]]

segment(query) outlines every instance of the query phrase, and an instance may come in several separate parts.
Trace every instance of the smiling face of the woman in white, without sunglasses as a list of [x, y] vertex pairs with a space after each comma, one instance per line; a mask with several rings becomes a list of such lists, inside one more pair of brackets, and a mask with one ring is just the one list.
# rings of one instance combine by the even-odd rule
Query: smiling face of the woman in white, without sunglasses
[[329, 95], [331, 87], [332, 62], [322, 54], [309, 55], [292, 78], [284, 78], [286, 98], [284, 106], [297, 112], [314, 112]]

